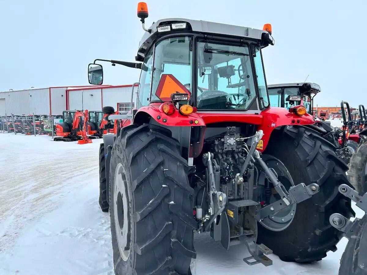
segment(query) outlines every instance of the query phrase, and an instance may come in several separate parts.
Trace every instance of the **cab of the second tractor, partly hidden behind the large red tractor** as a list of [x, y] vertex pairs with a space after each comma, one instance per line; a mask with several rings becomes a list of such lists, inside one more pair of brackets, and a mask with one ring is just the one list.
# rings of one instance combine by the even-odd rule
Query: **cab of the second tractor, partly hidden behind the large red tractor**
[[287, 83], [268, 85], [270, 106], [288, 110], [296, 105], [305, 106], [307, 113], [313, 115], [313, 98], [321, 92], [316, 83]]

